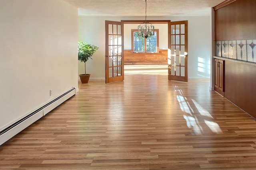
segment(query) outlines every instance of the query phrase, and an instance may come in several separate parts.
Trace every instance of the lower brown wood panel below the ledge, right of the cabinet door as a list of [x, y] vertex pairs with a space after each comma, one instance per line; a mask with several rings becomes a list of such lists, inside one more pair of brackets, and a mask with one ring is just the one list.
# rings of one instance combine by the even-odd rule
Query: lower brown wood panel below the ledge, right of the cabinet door
[[225, 98], [256, 118], [256, 64], [225, 61]]

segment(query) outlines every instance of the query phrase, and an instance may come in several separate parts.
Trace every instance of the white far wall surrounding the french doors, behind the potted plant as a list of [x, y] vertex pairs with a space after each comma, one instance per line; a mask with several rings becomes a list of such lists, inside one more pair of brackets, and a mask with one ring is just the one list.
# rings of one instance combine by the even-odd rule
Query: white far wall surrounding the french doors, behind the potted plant
[[[92, 79], [105, 78], [105, 20], [144, 20], [143, 17], [79, 17], [78, 39], [99, 46], [93, 60], [86, 64]], [[200, 17], [148, 17], [148, 20], [188, 20], [188, 77], [189, 79], [210, 78], [210, 16]], [[130, 41], [130, 39], [124, 41]], [[129, 42], [128, 42], [129, 43]], [[166, 44], [166, 47], [168, 45]], [[126, 47], [124, 47], [126, 49]], [[79, 74], [83, 74], [83, 63]], [[125, 76], [125, 75], [124, 75]]]

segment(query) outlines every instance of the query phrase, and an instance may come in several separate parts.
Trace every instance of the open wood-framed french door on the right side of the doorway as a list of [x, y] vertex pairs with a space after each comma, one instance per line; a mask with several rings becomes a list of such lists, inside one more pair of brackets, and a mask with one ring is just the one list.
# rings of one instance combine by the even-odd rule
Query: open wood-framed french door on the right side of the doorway
[[170, 22], [168, 80], [188, 82], [188, 21]]

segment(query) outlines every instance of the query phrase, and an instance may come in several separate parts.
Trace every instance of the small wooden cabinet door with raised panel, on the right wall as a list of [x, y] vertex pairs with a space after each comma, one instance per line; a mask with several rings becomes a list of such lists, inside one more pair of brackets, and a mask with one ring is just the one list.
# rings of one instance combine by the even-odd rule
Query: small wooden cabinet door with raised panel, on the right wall
[[224, 96], [224, 61], [214, 59], [215, 62], [215, 84], [214, 90]]

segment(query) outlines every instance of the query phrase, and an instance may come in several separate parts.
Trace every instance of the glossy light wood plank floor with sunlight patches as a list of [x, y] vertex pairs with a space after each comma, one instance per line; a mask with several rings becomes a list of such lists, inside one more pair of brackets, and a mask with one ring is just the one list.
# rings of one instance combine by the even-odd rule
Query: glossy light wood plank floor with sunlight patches
[[0, 146], [1, 170], [256, 169], [256, 120], [208, 80], [134, 70], [79, 90]]

